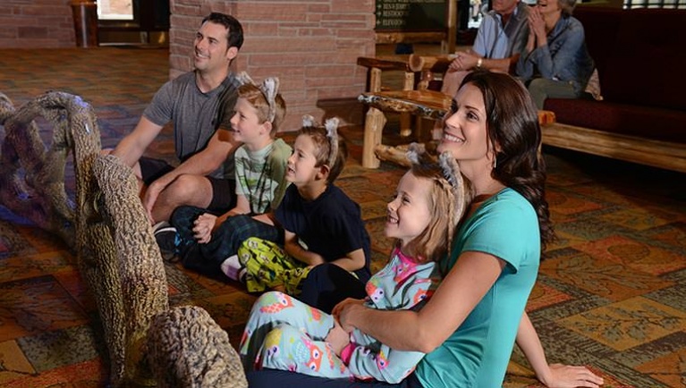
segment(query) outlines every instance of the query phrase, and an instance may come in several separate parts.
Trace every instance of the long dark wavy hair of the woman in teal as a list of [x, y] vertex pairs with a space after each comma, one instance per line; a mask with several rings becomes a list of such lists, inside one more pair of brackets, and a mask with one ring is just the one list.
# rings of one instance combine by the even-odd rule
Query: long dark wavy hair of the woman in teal
[[538, 152], [541, 130], [536, 105], [521, 82], [508, 74], [471, 72], [462, 85], [467, 83], [481, 90], [487, 136], [498, 148], [491, 176], [527, 198], [534, 207], [541, 249], [545, 250], [547, 243], [555, 239], [555, 232], [546, 201], [546, 163]]

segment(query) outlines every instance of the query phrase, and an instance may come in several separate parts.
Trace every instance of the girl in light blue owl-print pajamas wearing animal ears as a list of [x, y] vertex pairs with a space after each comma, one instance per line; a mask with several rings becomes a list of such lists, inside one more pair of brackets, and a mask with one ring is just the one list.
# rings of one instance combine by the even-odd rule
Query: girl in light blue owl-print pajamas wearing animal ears
[[[470, 201], [454, 158], [440, 165], [419, 163], [411, 150], [411, 170], [398, 184], [387, 206], [385, 235], [397, 240], [388, 264], [367, 283], [369, 308], [420, 308], [439, 279], [436, 261], [450, 249], [454, 229]], [[362, 302], [360, 300], [360, 302]], [[335, 317], [292, 299], [268, 292], [252, 308], [240, 346], [244, 365], [326, 377], [400, 382], [424, 354], [392, 350], [353, 330], [350, 335]]]

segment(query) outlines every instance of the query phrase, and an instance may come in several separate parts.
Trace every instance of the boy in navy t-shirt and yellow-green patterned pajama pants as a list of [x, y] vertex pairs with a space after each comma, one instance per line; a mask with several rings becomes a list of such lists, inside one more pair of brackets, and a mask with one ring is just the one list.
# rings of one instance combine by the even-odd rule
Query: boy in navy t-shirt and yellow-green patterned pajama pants
[[343, 297], [364, 297], [364, 283], [371, 275], [370, 242], [360, 206], [334, 185], [346, 156], [337, 126], [337, 118], [327, 120], [325, 129], [316, 126], [312, 116], [303, 117], [285, 176], [292, 184], [274, 212], [284, 228], [283, 249], [274, 241], [251, 237], [237, 256], [222, 264], [222, 272], [235, 280], [245, 274], [248, 291], [299, 294], [309, 270], [329, 263], [360, 283], [358, 293], [338, 290]]

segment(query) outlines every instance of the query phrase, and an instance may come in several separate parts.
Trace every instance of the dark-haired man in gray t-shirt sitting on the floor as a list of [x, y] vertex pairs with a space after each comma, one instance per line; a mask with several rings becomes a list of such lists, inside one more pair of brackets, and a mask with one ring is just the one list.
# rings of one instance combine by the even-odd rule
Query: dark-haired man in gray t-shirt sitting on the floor
[[[231, 132], [238, 83], [229, 66], [243, 43], [241, 23], [211, 13], [196, 33], [195, 70], [160, 88], [140, 122], [112, 154], [131, 165], [147, 185], [143, 206], [151, 223], [169, 220], [182, 205], [217, 212], [235, 205]], [[167, 122], [174, 123], [174, 150], [180, 164], [143, 156]]]

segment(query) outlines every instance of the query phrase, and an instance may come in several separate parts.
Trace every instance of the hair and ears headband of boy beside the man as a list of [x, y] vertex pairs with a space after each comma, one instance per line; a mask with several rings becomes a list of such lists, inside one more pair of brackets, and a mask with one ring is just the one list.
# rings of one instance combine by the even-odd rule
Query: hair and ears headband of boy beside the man
[[246, 72], [241, 72], [238, 80], [242, 85], [238, 88], [238, 97], [245, 98], [258, 111], [259, 123], [271, 122], [272, 130], [269, 135], [274, 138], [279, 126], [284, 122], [286, 102], [279, 93], [279, 79], [270, 77], [261, 85], [255, 84]]

